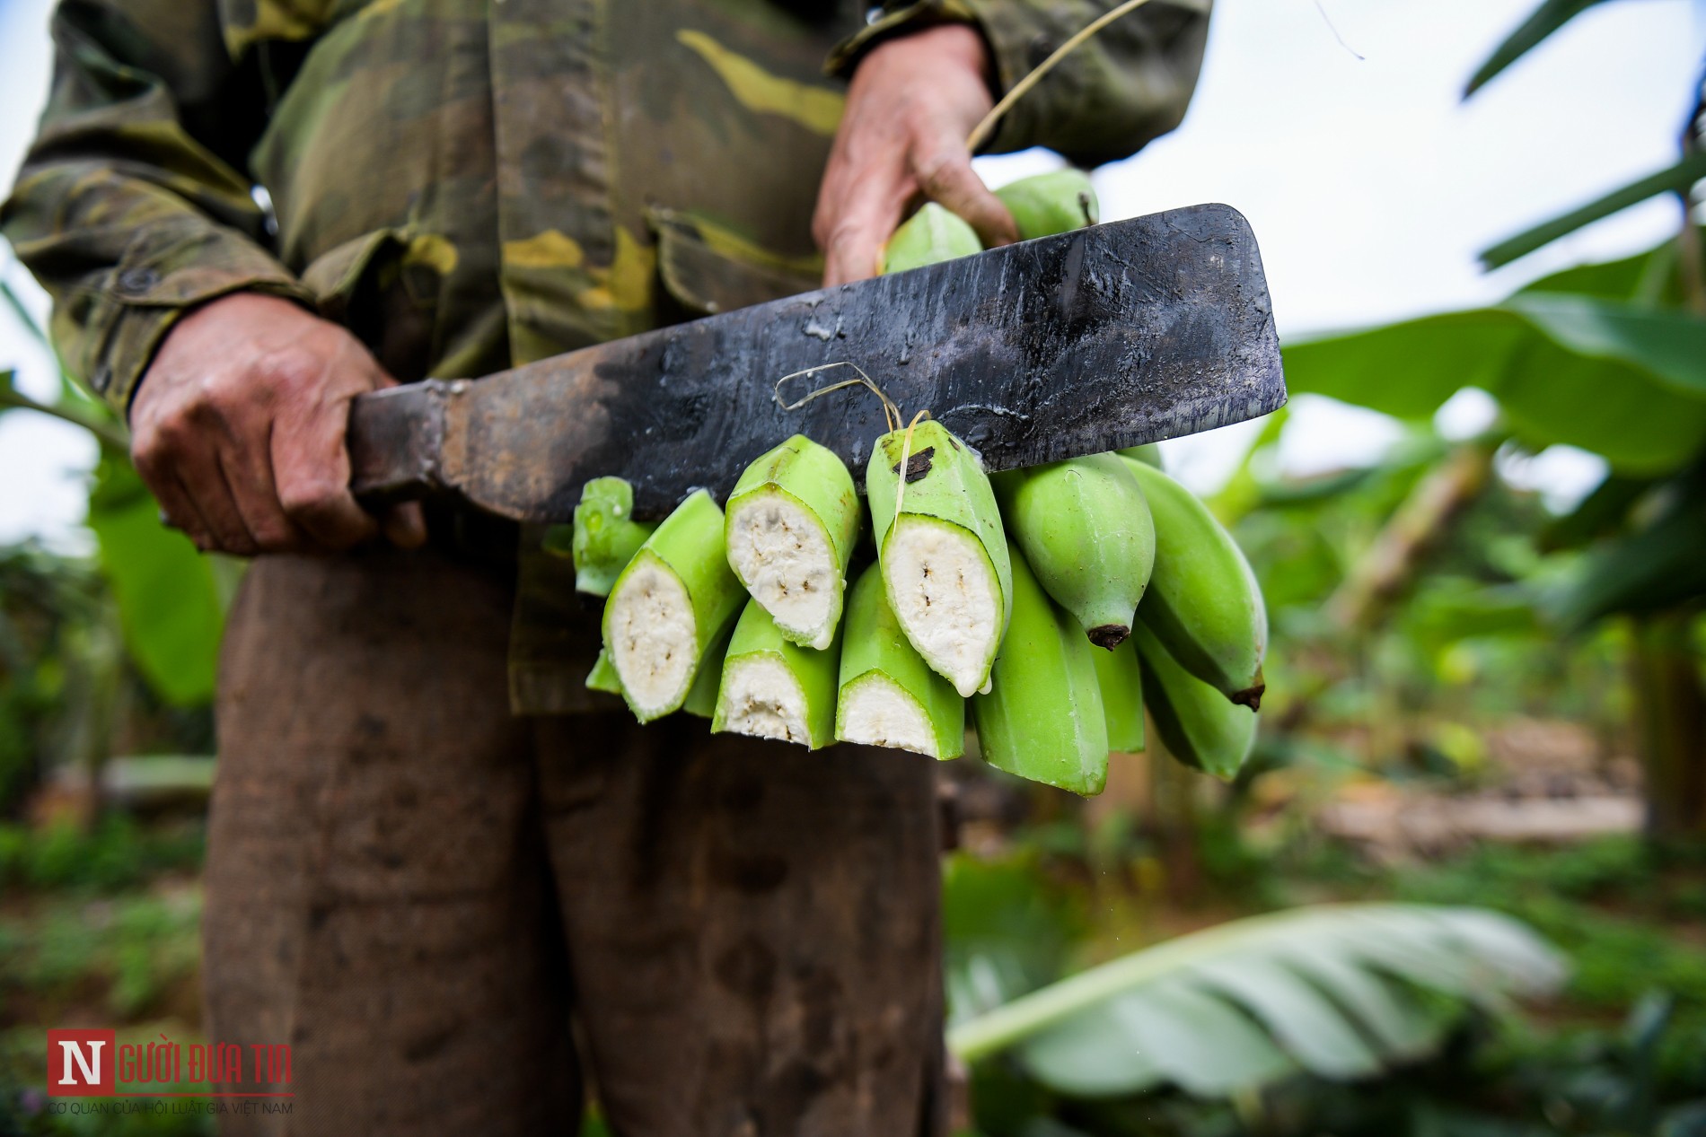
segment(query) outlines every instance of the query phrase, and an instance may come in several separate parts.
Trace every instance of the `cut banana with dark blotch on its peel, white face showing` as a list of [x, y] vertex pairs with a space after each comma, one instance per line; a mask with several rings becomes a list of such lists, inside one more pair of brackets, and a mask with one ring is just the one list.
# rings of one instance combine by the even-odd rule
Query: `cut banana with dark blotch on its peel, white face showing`
[[978, 455], [935, 421], [889, 431], [872, 447], [865, 496], [889, 607], [906, 639], [962, 697], [986, 690], [1012, 609], [1013, 571]]

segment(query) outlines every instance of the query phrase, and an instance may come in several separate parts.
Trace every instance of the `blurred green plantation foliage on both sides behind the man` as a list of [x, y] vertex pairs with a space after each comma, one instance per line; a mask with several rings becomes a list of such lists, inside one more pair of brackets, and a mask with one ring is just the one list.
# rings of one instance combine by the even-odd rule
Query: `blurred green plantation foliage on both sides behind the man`
[[[1465, 97], [1593, 3], [1541, 3]], [[1701, 95], [1674, 167], [1488, 264], [1655, 194], [1691, 218]], [[1273, 622], [1250, 767], [1128, 755], [1092, 803], [943, 767], [962, 1130], [1706, 1134], [1703, 261], [1684, 220], [1486, 309], [1286, 344], [1293, 395], [1404, 435], [1293, 479], [1281, 411], [1211, 499]], [[1496, 413], [1442, 431], [1465, 387]], [[0, 373], [19, 411], [102, 457], [96, 556], [0, 549], [0, 1134], [210, 1132], [51, 1117], [39, 1055], [49, 1024], [194, 1038], [241, 566], [160, 528], [75, 384], [41, 404]], [[1508, 477], [1552, 445], [1610, 470], [1564, 513]]]

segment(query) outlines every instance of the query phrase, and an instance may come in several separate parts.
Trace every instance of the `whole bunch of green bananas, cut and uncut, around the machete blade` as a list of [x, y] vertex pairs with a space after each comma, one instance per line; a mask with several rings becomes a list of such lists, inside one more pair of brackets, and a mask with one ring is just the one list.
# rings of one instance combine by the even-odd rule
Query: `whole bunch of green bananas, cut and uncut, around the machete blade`
[[[1095, 218], [1075, 170], [1000, 194], [1027, 237]], [[885, 264], [976, 251], [969, 225], [925, 206]], [[688, 709], [717, 731], [937, 759], [962, 752], [969, 706], [986, 762], [1080, 794], [1100, 793], [1111, 750], [1143, 748], [1146, 701], [1177, 760], [1232, 777], [1256, 738], [1261, 592], [1232, 535], [1152, 462], [991, 479], [920, 416], [875, 440], [863, 505], [804, 435], [757, 455], [727, 513], [698, 491], [655, 530], [597, 479], [573, 534], [578, 586], [609, 593], [589, 685], [641, 721]]]

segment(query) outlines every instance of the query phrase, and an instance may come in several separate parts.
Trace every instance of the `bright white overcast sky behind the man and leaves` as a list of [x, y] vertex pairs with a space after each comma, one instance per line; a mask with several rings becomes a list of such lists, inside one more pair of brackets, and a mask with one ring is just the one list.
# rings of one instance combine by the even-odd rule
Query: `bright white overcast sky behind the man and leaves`
[[[1592, 9], [1472, 102], [1464, 80], [1537, 0], [1220, 0], [1184, 126], [1097, 174], [1104, 220], [1227, 201], [1254, 227], [1283, 338], [1494, 300], [1564, 264], [1622, 256], [1674, 232], [1667, 201], [1605, 220], [1491, 276], [1481, 247], [1674, 160], [1706, 48], [1706, 0], [1622, 0]], [[0, 182], [17, 169], [48, 84], [49, 0], [0, 0]], [[1000, 184], [1051, 155], [981, 160]], [[29, 285], [15, 266], [14, 285]], [[46, 360], [0, 314], [0, 368], [46, 394]], [[1442, 421], [1472, 431], [1484, 399]], [[1169, 443], [1186, 481], [1213, 486], [1254, 424]], [[1372, 460], [1396, 426], [1300, 399], [1281, 450], [1295, 472]], [[75, 428], [0, 418], [0, 542], [43, 534], [80, 544]], [[1508, 476], [1556, 503], [1599, 477], [1554, 448]]]

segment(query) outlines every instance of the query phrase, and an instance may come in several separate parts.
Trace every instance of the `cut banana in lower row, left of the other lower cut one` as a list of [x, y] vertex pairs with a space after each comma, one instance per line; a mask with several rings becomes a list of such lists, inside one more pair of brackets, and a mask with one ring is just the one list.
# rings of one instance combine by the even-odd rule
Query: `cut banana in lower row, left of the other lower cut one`
[[790, 641], [749, 600], [728, 639], [711, 731], [827, 747], [836, 738], [838, 655]]

